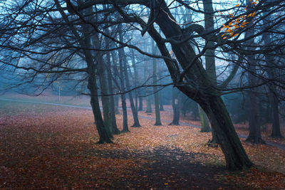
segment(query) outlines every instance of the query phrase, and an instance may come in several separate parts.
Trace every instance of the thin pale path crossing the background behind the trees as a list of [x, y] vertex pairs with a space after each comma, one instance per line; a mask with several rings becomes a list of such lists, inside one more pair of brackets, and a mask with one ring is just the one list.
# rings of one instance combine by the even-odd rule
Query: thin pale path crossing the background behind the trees
[[[30, 100], [14, 100], [14, 99], [9, 99], [9, 98], [1, 98], [0, 100], [4, 100], [4, 101], [12, 101], [12, 102], [27, 102], [27, 103], [35, 103], [35, 104], [43, 104], [43, 105], [56, 105], [56, 106], [63, 106], [63, 107], [75, 107], [75, 108], [81, 108], [81, 109], [88, 109], [88, 110], [92, 110], [91, 107], [84, 107], [84, 106], [78, 106], [78, 105], [66, 105], [66, 104], [58, 104], [58, 103], [51, 103], [51, 102], [36, 102], [36, 101], [30, 101]], [[152, 117], [145, 117], [142, 115], [139, 115], [138, 117], [142, 118], [142, 119], [146, 119], [146, 120], [155, 120]], [[172, 122], [171, 120], [162, 120], [162, 122]], [[186, 122], [180, 122], [180, 125], [185, 125], [185, 126], [189, 126], [189, 127], [195, 127], [195, 128], [201, 128], [200, 125], [192, 125], [192, 124], [188, 124]], [[243, 134], [238, 134], [239, 137], [241, 138], [247, 138], [247, 136], [243, 135]], [[285, 151], [285, 146], [282, 144], [277, 144], [274, 142], [266, 142], [266, 144], [269, 144], [272, 147], [277, 147], [279, 149], [283, 149]]]

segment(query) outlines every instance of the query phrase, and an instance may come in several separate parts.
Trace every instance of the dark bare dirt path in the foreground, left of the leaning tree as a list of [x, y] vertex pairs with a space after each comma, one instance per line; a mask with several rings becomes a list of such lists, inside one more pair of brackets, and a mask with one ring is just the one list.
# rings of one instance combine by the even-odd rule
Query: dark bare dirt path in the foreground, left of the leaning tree
[[130, 179], [117, 181], [118, 184], [114, 184], [117, 189], [239, 189], [234, 184], [217, 181], [217, 176], [227, 175], [223, 167], [194, 163], [194, 157], [203, 155], [177, 148], [156, 147], [152, 152], [103, 151], [97, 154], [111, 159], [150, 160]]

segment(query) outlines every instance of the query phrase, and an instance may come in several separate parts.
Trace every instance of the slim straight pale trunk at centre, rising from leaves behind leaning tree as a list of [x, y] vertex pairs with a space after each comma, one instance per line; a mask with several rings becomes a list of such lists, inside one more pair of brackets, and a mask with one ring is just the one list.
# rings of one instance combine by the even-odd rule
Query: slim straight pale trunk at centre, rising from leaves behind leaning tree
[[[152, 53], [156, 54], [155, 51], [155, 41], [152, 40]], [[159, 97], [158, 97], [158, 92], [157, 92], [157, 86], [155, 86], [157, 84], [157, 63], [156, 63], [156, 59], [152, 58], [152, 80], [153, 80], [153, 93], [155, 96], [155, 125], [162, 125], [161, 121], [160, 121], [160, 102], [159, 102]]]

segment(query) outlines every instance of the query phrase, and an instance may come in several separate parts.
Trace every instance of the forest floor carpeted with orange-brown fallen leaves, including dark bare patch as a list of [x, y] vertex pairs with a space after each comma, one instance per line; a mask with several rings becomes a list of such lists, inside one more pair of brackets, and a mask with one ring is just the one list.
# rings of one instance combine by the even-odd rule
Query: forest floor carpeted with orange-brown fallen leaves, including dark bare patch
[[[117, 122], [122, 129], [122, 115]], [[242, 139], [254, 167], [230, 172], [222, 150], [207, 146], [210, 133], [153, 122], [141, 118], [113, 144], [96, 144], [90, 110], [0, 100], [0, 188], [285, 188], [284, 150]]]

